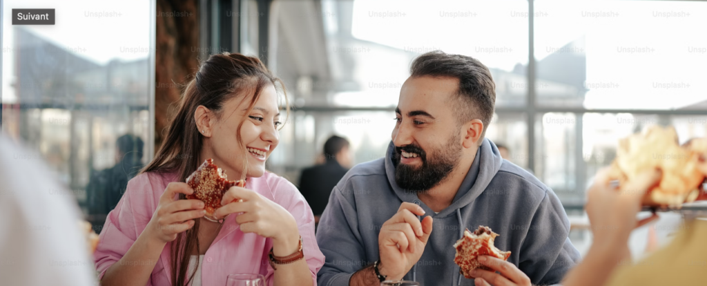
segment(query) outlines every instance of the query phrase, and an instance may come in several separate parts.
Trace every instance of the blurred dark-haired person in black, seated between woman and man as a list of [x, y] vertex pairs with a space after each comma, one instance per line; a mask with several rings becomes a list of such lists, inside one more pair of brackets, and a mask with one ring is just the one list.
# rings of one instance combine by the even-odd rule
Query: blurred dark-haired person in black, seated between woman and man
[[305, 168], [300, 176], [300, 193], [309, 202], [315, 222], [327, 207], [329, 194], [351, 168], [349, 140], [333, 135], [324, 144], [324, 164]]

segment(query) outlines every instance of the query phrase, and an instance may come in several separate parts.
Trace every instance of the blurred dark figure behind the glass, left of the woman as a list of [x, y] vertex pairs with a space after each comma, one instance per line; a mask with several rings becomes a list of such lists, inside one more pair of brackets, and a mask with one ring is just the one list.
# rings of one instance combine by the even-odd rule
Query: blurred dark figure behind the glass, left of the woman
[[[145, 143], [140, 137], [123, 135], [115, 142], [115, 166], [95, 171], [88, 181], [88, 213], [107, 214], [115, 208], [132, 179], [143, 167]], [[103, 222], [98, 222], [103, 225]]]

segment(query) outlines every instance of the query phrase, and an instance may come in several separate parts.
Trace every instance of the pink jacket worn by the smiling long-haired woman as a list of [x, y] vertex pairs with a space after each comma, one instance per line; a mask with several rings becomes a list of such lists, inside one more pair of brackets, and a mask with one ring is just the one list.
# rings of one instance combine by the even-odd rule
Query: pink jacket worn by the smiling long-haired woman
[[[99, 280], [110, 265], [127, 253], [150, 221], [167, 184], [177, 181], [176, 178], [176, 173], [142, 173], [128, 182], [125, 194], [105, 220], [98, 248], [93, 255], [100, 272]], [[245, 188], [277, 202], [296, 219], [304, 241], [305, 259], [314, 285], [317, 285], [317, 271], [324, 264], [324, 255], [315, 239], [312, 210], [297, 188], [269, 172], [260, 178], [248, 178]], [[252, 233], [244, 234], [235, 222], [235, 215], [229, 215], [204, 255], [201, 285], [226, 285], [226, 277], [235, 273], [259, 273], [265, 276], [268, 285], [273, 285], [273, 269], [267, 257], [271, 248], [271, 239]], [[170, 244], [167, 244], [147, 285], [172, 285], [170, 269]]]

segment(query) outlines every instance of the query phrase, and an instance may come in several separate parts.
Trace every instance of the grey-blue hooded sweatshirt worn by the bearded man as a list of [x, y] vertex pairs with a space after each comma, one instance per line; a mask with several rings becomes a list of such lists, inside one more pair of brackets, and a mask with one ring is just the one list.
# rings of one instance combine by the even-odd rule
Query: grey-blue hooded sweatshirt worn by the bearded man
[[452, 246], [479, 225], [500, 234], [496, 247], [511, 251], [508, 261], [534, 285], [559, 283], [580, 259], [568, 239], [570, 224], [555, 195], [524, 169], [501, 158], [489, 139], [477, 151], [452, 205], [435, 214], [415, 193], [395, 183], [390, 154], [346, 173], [334, 187], [317, 228], [326, 256], [317, 284], [349, 285], [351, 275], [378, 260], [378, 232], [402, 202], [413, 202], [433, 217], [433, 229], [420, 260], [404, 280], [421, 285], [474, 285], [459, 273]]

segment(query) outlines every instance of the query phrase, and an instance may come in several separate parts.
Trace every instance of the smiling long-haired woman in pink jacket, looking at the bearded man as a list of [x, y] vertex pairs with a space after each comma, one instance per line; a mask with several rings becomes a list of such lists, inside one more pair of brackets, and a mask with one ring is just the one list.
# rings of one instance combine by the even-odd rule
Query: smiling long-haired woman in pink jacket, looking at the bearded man
[[[315, 284], [324, 256], [312, 210], [265, 170], [279, 144], [281, 84], [257, 57], [223, 53], [201, 64], [160, 151], [108, 214], [94, 255], [101, 285], [226, 285], [237, 273]], [[184, 182], [206, 159], [246, 180], [223, 195], [216, 221], [203, 201], [186, 199], [194, 190]]]

